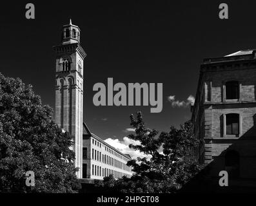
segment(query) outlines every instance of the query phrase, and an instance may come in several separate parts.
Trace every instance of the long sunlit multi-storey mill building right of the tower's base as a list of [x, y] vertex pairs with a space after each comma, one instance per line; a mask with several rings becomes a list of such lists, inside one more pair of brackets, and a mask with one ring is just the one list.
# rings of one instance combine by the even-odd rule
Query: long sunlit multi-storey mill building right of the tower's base
[[103, 180], [104, 176], [114, 178], [132, 176], [132, 168], [126, 163], [129, 154], [123, 154], [90, 132], [86, 124], [83, 131], [83, 178]]

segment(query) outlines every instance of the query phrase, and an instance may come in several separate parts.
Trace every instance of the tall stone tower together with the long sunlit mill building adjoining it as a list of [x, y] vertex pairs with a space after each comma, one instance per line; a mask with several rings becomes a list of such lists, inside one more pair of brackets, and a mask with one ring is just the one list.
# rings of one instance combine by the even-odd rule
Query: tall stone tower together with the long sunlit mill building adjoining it
[[54, 46], [57, 54], [55, 121], [73, 137], [78, 178], [102, 179], [110, 174], [115, 178], [131, 176], [131, 169], [126, 166], [130, 156], [106, 144], [83, 124], [83, 62], [86, 53], [80, 44], [80, 36], [79, 27], [70, 20], [63, 26], [61, 44]]

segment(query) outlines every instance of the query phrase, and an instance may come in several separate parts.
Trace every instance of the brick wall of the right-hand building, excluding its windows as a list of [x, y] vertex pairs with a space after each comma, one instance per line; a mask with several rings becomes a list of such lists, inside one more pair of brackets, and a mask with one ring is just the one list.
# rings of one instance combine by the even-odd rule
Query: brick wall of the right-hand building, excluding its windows
[[[201, 66], [192, 109], [194, 132], [204, 136], [204, 163], [211, 165], [212, 176], [218, 176], [219, 171], [225, 169], [226, 152], [235, 150], [239, 153], [240, 177], [256, 178], [256, 59], [251, 56], [246, 60], [243, 57], [224, 60], [226, 57], [221, 62], [209, 61]], [[226, 100], [225, 84], [231, 80], [239, 82], [236, 100]], [[202, 100], [204, 104], [200, 108]], [[239, 135], [225, 133], [228, 113], [239, 114]], [[204, 121], [203, 131], [199, 131], [201, 120]]]

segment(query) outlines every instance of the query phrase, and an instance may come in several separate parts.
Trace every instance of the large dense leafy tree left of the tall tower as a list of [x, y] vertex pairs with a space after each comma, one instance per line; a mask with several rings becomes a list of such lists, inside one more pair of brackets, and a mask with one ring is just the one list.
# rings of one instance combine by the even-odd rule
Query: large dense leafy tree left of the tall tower
[[[0, 191], [75, 192], [72, 137], [52, 120], [32, 86], [0, 73]], [[34, 171], [35, 186], [25, 184]]]

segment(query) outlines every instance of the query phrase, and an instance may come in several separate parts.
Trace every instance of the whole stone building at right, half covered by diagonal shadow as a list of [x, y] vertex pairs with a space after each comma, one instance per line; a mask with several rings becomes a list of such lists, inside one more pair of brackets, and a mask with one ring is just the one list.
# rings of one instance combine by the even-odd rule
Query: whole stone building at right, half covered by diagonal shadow
[[239, 184], [256, 178], [256, 50], [204, 59], [192, 122], [211, 176], [228, 171]]

